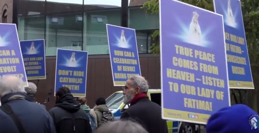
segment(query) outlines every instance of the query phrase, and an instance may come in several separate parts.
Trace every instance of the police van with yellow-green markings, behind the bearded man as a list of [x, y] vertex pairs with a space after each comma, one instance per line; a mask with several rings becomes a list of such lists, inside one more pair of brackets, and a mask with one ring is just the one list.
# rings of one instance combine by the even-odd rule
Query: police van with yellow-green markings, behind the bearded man
[[[149, 89], [148, 98], [161, 106], [161, 89]], [[123, 92], [117, 91], [106, 99], [106, 105], [113, 113], [115, 119], [120, 119], [121, 114], [129, 106], [123, 103]], [[168, 133], [198, 133], [199, 126], [193, 123], [185, 123], [185, 131], [183, 131], [182, 122], [167, 120]]]

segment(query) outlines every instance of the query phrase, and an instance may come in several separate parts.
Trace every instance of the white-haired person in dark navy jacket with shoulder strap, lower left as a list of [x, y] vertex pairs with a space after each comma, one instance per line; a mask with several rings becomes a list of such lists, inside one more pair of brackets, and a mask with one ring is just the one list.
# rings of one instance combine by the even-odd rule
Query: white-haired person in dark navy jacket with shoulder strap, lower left
[[56, 133], [47, 110], [39, 104], [27, 101], [22, 79], [15, 76], [3, 77], [0, 80], [0, 97], [1, 133], [13, 133], [14, 130], [20, 133]]

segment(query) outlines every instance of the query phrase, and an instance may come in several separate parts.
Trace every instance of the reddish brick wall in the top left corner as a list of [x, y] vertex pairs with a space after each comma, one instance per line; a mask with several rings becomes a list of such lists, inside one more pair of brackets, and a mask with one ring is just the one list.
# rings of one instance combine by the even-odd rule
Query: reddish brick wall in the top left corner
[[3, 23], [3, 15], [7, 15], [7, 23], [13, 22], [13, 0], [0, 0], [0, 23]]

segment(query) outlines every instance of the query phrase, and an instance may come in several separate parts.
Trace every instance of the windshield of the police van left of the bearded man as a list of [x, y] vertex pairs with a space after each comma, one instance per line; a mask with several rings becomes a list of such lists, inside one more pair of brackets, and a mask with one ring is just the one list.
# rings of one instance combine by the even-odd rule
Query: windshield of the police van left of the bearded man
[[117, 109], [123, 102], [123, 93], [114, 93], [106, 99], [106, 105], [109, 109]]

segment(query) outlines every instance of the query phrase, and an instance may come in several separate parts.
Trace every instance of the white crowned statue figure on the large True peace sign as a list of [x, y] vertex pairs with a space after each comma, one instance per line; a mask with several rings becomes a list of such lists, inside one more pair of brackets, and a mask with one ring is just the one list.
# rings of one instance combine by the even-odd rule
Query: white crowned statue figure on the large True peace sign
[[200, 25], [198, 22], [197, 24], [193, 23], [193, 19], [192, 19], [192, 22], [190, 23], [189, 34], [190, 34], [191, 42], [197, 45], [201, 45], [202, 35], [201, 35]]

